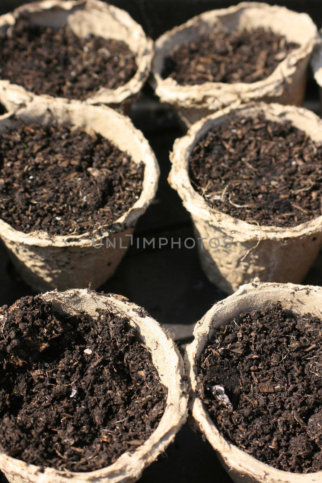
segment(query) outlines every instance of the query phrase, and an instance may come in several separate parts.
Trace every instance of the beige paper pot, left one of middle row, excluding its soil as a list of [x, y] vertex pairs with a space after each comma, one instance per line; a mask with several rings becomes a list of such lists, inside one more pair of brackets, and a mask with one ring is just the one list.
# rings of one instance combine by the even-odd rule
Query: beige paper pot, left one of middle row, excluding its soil
[[49, 125], [53, 121], [87, 132], [94, 130], [132, 156], [134, 162], [143, 162], [140, 198], [112, 227], [95, 235], [49, 236], [40, 230], [23, 233], [0, 218], [0, 238], [21, 277], [36, 291], [86, 288], [89, 283], [96, 288], [113, 275], [125, 255], [138, 218], [154, 199], [159, 167], [143, 134], [127, 117], [108, 107], [34, 99], [28, 107], [0, 116], [0, 133], [7, 127], [14, 129], [21, 122]]

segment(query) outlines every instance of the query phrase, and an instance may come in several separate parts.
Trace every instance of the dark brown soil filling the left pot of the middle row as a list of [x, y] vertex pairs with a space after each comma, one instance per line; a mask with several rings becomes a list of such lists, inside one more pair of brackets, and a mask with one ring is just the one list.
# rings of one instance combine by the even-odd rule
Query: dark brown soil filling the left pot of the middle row
[[140, 197], [136, 164], [94, 131], [22, 126], [0, 135], [0, 216], [17, 230], [92, 234]]

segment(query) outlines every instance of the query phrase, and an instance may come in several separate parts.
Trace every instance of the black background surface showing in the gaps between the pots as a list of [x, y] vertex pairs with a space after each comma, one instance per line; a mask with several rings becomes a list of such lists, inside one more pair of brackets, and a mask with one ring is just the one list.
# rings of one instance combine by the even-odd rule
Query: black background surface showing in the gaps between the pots
[[[19, 0], [0, 0], [0, 14], [28, 3]], [[190, 17], [238, 2], [224, 0], [114, 0], [114, 5], [124, 8], [138, 21], [152, 38]], [[285, 0], [267, 3], [287, 6], [311, 15], [319, 28], [322, 27], [322, 0]], [[305, 106], [319, 111], [318, 89], [312, 75], [307, 88]], [[168, 185], [170, 170], [168, 153], [174, 140], [182, 135], [176, 118], [167, 107], [158, 103], [145, 89], [140, 102], [132, 110], [134, 124], [142, 129], [157, 156], [161, 178], [156, 198], [140, 218], [135, 235], [150, 240], [173, 237], [177, 240], [193, 236], [188, 213], [181, 200]], [[136, 245], [136, 243], [134, 243]], [[322, 256], [310, 270], [305, 283], [322, 285]], [[125, 295], [169, 329], [180, 349], [192, 341], [193, 327], [212, 304], [225, 295], [210, 284], [200, 269], [196, 249], [185, 248], [145, 250], [130, 248], [116, 274], [101, 288], [105, 292]], [[0, 245], [0, 306], [12, 304], [17, 298], [32, 294], [15, 273], [7, 254]], [[185, 425], [159, 460], [147, 468], [141, 483], [231, 483], [229, 476], [219, 464], [207, 441]], [[5, 482], [4, 478], [0, 483]]]

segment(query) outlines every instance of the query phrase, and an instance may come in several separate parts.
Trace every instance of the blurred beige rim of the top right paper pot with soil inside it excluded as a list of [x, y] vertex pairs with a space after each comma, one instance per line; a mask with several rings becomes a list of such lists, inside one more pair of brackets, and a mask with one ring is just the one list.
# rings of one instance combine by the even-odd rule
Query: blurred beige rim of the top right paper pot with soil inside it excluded
[[[253, 83], [238, 82], [234, 84], [222, 82], [205, 82], [201, 85], [180, 85], [174, 79], [167, 77], [163, 79], [161, 71], [163, 68], [163, 60], [169, 54], [167, 43], [176, 34], [184, 32], [186, 29], [193, 28], [195, 25], [200, 28], [202, 23], [213, 23], [213, 19], [223, 17], [225, 15], [238, 14], [247, 9], [258, 9], [261, 15], [265, 16], [265, 10], [269, 10], [275, 14], [276, 18], [285, 23], [285, 16], [289, 17], [289, 22], [296, 19], [301, 22], [303, 27], [311, 31], [311, 35], [306, 42], [300, 43], [297, 49], [291, 51], [284, 60], [282, 60], [276, 69], [266, 79]], [[264, 12], [262, 13], [261, 11]], [[292, 17], [292, 18], [291, 18]], [[266, 26], [266, 24], [263, 24]], [[274, 30], [274, 25], [271, 26]], [[184, 42], [182, 36], [182, 42]], [[297, 41], [299, 43], [299, 41]], [[287, 80], [296, 71], [299, 61], [310, 55], [315, 44], [319, 43], [318, 31], [308, 14], [299, 14], [286, 7], [278, 5], [268, 5], [264, 2], [247, 2], [243, 1], [238, 5], [228, 8], [210, 10], [202, 14], [196, 15], [179, 27], [174, 27], [161, 35], [154, 44], [154, 58], [152, 61], [153, 78], [151, 84], [156, 94], [163, 102], [169, 102], [180, 107], [208, 107], [211, 109], [218, 108], [223, 105], [221, 97], [226, 96], [225, 105], [236, 102], [237, 100], [249, 102], [252, 99], [263, 97], [278, 96], [282, 94], [282, 86], [287, 84]], [[180, 43], [179, 43], [180, 44]], [[213, 105], [213, 106], [212, 106]]]

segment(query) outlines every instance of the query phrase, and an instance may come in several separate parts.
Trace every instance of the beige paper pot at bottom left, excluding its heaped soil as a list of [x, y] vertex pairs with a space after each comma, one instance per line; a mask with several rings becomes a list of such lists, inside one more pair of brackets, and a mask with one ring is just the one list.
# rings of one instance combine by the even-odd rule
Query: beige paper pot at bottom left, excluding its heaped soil
[[[73, 473], [35, 466], [0, 453], [0, 470], [10, 483], [81, 483], [81, 482], [134, 482], [144, 468], [163, 453], [186, 420], [187, 387], [181, 355], [165, 330], [142, 309], [120, 295], [101, 295], [89, 290], [67, 290], [47, 292], [41, 296], [52, 302], [53, 308], [64, 314], [85, 313], [98, 317], [97, 310], [107, 308], [127, 316], [130, 325], [137, 329], [140, 340], [151, 352], [152, 362], [160, 382], [168, 389], [165, 412], [152, 435], [134, 452], [126, 452], [115, 463], [96, 471]], [[139, 315], [140, 313], [140, 315]]]

